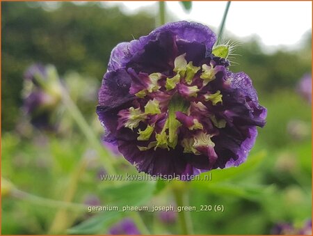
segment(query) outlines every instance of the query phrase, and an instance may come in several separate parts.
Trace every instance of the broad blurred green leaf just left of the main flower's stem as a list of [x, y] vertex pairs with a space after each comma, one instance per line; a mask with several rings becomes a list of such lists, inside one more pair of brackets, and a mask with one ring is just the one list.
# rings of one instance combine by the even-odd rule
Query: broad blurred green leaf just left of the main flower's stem
[[[100, 196], [103, 196], [104, 202], [108, 206], [119, 207], [119, 211], [104, 211], [97, 214], [77, 226], [67, 230], [70, 234], [97, 234], [103, 232], [111, 221], [115, 221], [131, 212], [122, 212], [122, 207], [129, 205], [130, 207], [140, 206], [150, 200], [154, 194], [156, 182], [131, 182], [117, 187], [107, 187], [102, 189]], [[134, 213], [134, 212], [133, 212]]]

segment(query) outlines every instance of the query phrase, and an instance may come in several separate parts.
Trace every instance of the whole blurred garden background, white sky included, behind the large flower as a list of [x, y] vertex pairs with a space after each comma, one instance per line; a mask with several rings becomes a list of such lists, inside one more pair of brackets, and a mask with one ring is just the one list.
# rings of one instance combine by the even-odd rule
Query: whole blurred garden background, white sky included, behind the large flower
[[[202, 22], [217, 33], [225, 3], [168, 2], [166, 17]], [[268, 109], [267, 124], [246, 164], [214, 170], [210, 182], [188, 184], [189, 205], [225, 207], [191, 212], [198, 235], [298, 234], [293, 230], [303, 229], [312, 215], [312, 2], [255, 4], [232, 3], [224, 38], [238, 45], [230, 70], [250, 76]], [[143, 233], [133, 212], [88, 213], [85, 206], [175, 205], [166, 182], [113, 186], [100, 180], [108, 159], [118, 173], [136, 169], [109, 145], [104, 143], [100, 154], [90, 145], [71, 116], [76, 110], [60, 101], [62, 92], [50, 93], [39, 111], [28, 107], [31, 91], [38, 90], [27, 79], [29, 67], [40, 63], [47, 72], [43, 77], [61, 79], [101, 140], [95, 107], [111, 49], [150, 33], [159, 24], [158, 7], [156, 2], [1, 2], [3, 235]], [[152, 234], [179, 234], [175, 213], [139, 216]]]

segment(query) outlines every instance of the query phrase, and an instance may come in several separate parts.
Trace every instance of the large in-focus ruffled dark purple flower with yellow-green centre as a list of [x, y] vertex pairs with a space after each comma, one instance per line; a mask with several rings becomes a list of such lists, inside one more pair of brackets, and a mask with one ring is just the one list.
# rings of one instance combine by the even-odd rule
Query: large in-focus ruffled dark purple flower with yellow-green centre
[[207, 26], [174, 22], [113, 49], [97, 114], [138, 171], [184, 178], [245, 162], [266, 109], [215, 42]]

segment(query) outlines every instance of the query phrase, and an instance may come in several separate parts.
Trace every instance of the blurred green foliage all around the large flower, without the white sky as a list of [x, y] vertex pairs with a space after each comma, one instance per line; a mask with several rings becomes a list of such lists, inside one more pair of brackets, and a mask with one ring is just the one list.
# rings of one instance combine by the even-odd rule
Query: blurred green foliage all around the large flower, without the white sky
[[[22, 75], [35, 62], [51, 63], [64, 79], [72, 100], [83, 111], [97, 136], [103, 129], [95, 114], [97, 88], [106, 71], [111, 49], [118, 42], [149, 33], [154, 17], [148, 13], [126, 15], [99, 3], [2, 2], [2, 130], [1, 173], [18, 189], [54, 200], [63, 200], [73, 171], [87, 159], [86, 171], [72, 199], [83, 203], [88, 194], [102, 205], [160, 205], [173, 203], [168, 182], [118, 182], [99, 180], [105, 164], [82, 136], [68, 113], [57, 133], [42, 133], [21, 125]], [[191, 212], [195, 234], [269, 234], [280, 221], [302, 224], [311, 216], [312, 145], [311, 104], [296, 92], [296, 84], [311, 70], [311, 38], [299, 49], [281, 48], [266, 54], [257, 39], [236, 47], [232, 70], [250, 75], [259, 102], [268, 109], [267, 124], [259, 130], [255, 147], [245, 164], [211, 171], [212, 180], [190, 182], [190, 205], [223, 205], [224, 212]], [[239, 63], [239, 65], [235, 64]], [[300, 120], [307, 129], [301, 139], [287, 129]], [[107, 150], [108, 155], [112, 155]], [[122, 157], [118, 173], [136, 168]], [[152, 196], [153, 195], [153, 196]], [[2, 234], [46, 234], [58, 207], [30, 203], [13, 197], [2, 201]], [[108, 233], [125, 217], [120, 212], [69, 211], [73, 234]], [[155, 234], [177, 234], [176, 224], [165, 225], [157, 213], [141, 212]]]

